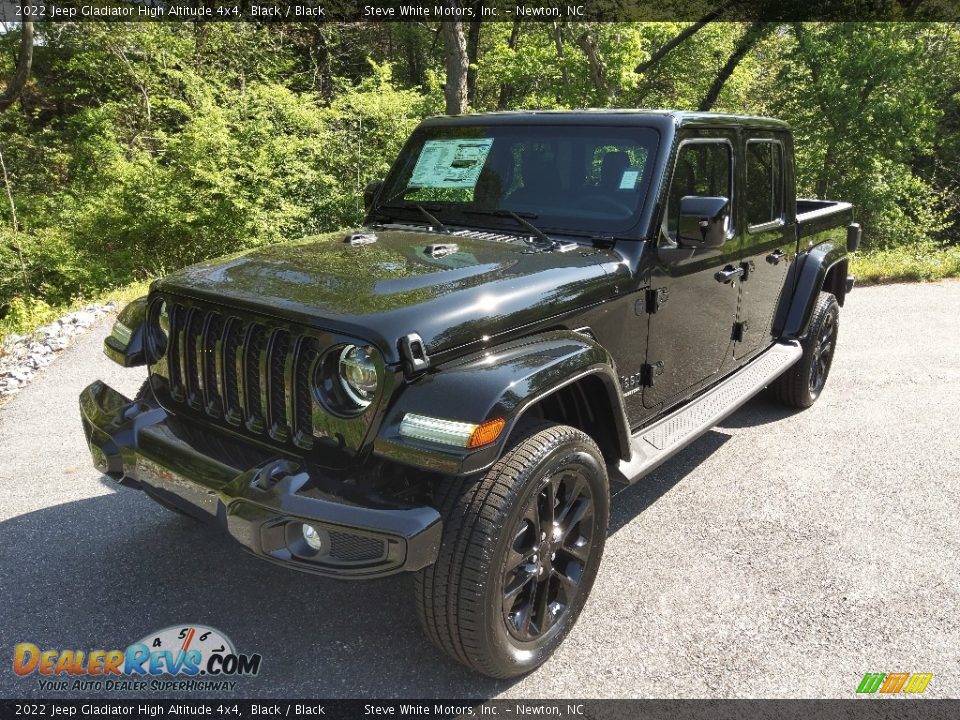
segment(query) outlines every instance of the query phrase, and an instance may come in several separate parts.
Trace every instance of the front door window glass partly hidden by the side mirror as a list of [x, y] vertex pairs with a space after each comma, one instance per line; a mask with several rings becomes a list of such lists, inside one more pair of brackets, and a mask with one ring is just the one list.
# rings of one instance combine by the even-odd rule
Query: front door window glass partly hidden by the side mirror
[[692, 142], [680, 147], [673, 182], [667, 194], [666, 231], [677, 236], [680, 198], [687, 195], [726, 197], [731, 194], [733, 157], [730, 144], [723, 141]]

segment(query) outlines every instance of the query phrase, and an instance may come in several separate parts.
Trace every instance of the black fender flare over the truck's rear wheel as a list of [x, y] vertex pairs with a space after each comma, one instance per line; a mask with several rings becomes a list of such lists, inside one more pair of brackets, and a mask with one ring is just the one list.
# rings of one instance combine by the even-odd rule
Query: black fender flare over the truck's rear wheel
[[[800, 253], [790, 266], [785, 292], [774, 315], [774, 332], [785, 340], [804, 337], [810, 327], [817, 297], [830, 270], [847, 260], [845, 243], [827, 240]], [[845, 279], [845, 278], [844, 278]], [[843, 298], [838, 298], [841, 303]]]

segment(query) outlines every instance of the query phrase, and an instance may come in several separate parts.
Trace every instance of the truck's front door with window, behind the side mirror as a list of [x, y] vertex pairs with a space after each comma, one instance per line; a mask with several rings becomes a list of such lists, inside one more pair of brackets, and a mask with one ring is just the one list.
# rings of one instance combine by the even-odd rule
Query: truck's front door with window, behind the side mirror
[[[736, 141], [732, 131], [704, 132], [683, 140], [677, 151], [649, 293], [659, 302], [649, 315], [646, 408], [682, 399], [729, 357], [739, 282], [736, 277], [718, 279], [717, 273], [739, 262]], [[720, 243], [697, 246], [679, 237], [680, 200], [690, 196], [730, 199], [727, 232]]]

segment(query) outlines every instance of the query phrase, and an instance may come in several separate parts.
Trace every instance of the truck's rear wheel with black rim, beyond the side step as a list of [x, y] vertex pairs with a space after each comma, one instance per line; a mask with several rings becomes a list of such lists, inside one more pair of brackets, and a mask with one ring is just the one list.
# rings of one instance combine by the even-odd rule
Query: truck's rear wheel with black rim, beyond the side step
[[808, 408], [817, 401], [830, 375], [839, 329], [837, 299], [821, 292], [810, 319], [810, 329], [800, 341], [803, 356], [770, 385], [777, 400], [795, 408]]

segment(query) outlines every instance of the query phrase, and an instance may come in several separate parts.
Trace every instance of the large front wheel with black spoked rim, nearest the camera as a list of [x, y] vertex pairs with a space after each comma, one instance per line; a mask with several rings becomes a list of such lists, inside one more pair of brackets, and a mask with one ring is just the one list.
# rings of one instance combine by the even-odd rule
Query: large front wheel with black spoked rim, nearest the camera
[[443, 541], [417, 573], [430, 639], [493, 677], [541, 665], [569, 634], [597, 575], [610, 496], [603, 457], [581, 431], [520, 431], [479, 480], [438, 492]]

